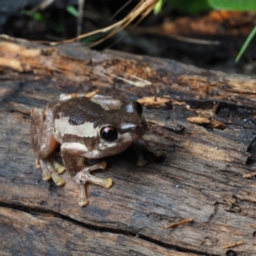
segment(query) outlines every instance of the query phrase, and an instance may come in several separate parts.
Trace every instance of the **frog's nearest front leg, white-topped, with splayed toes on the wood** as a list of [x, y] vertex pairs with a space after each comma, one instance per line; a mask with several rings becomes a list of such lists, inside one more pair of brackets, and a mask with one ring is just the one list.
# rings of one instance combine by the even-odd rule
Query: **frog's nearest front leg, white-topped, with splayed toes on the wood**
[[73, 176], [75, 183], [79, 187], [79, 206], [84, 207], [88, 201], [85, 194], [85, 183], [90, 182], [96, 185], [100, 185], [105, 189], [108, 189], [112, 185], [111, 178], [101, 178], [95, 177], [90, 174], [91, 171], [102, 169], [105, 170], [106, 162], [102, 161], [101, 164], [94, 166], [84, 166], [81, 161], [81, 157], [87, 157], [88, 154], [93, 154], [93, 152], [88, 152], [87, 148], [80, 143], [64, 143], [61, 145], [61, 154], [64, 165], [66, 166], [67, 172]]

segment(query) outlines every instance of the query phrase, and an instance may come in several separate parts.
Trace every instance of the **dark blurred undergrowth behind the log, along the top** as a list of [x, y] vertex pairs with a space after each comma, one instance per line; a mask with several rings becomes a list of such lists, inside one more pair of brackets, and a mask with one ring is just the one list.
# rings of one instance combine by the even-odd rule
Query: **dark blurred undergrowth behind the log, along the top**
[[[81, 33], [113, 25], [131, 14], [139, 2], [87, 0]], [[41, 3], [42, 0], [0, 0], [0, 32], [47, 41], [77, 36], [79, 0], [51, 0], [44, 9], [37, 8]], [[118, 49], [227, 73], [253, 74], [255, 9], [254, 0], [160, 0], [154, 12], [137, 26], [133, 25], [139, 18], [95, 49]], [[88, 45], [106, 35], [108, 32], [102, 30], [80, 42]], [[239, 63], [235, 62], [237, 55], [241, 56]]]

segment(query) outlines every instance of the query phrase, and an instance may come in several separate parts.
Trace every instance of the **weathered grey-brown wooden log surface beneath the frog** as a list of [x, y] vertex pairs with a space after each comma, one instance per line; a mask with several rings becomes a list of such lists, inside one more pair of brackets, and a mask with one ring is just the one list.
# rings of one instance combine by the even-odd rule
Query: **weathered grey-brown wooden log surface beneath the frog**
[[[242, 177], [256, 171], [256, 79], [74, 45], [19, 47], [0, 44], [1, 255], [256, 255], [256, 183]], [[124, 81], [136, 77], [148, 85]], [[169, 99], [144, 111], [145, 139], [166, 159], [146, 154], [148, 166], [137, 167], [131, 152], [108, 158], [97, 175], [113, 187], [88, 184], [81, 208], [67, 173], [58, 188], [35, 168], [29, 110], [95, 89]], [[210, 123], [188, 121], [195, 116]], [[186, 218], [194, 221], [163, 229]]]

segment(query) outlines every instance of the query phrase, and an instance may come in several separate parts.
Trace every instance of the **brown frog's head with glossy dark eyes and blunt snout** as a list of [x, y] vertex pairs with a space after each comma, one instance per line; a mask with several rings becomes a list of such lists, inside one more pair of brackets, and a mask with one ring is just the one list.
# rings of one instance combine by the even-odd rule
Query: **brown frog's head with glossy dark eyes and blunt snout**
[[118, 154], [143, 137], [147, 127], [142, 105], [126, 102], [122, 108], [108, 111], [108, 123], [100, 129], [100, 148]]

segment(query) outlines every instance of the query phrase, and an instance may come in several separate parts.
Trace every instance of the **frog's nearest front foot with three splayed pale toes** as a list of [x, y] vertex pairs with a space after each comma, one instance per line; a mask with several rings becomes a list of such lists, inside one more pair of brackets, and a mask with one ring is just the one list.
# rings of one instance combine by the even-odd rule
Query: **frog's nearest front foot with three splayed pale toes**
[[78, 172], [75, 177], [75, 183], [79, 186], [79, 206], [84, 207], [88, 204], [88, 200], [86, 199], [85, 194], [85, 183], [90, 182], [96, 185], [100, 185], [105, 189], [109, 189], [112, 185], [111, 178], [102, 178], [96, 177], [90, 174], [91, 171], [102, 169], [105, 170], [107, 164], [105, 161], [102, 161], [101, 164], [97, 164], [94, 166], [84, 167], [80, 172]]

